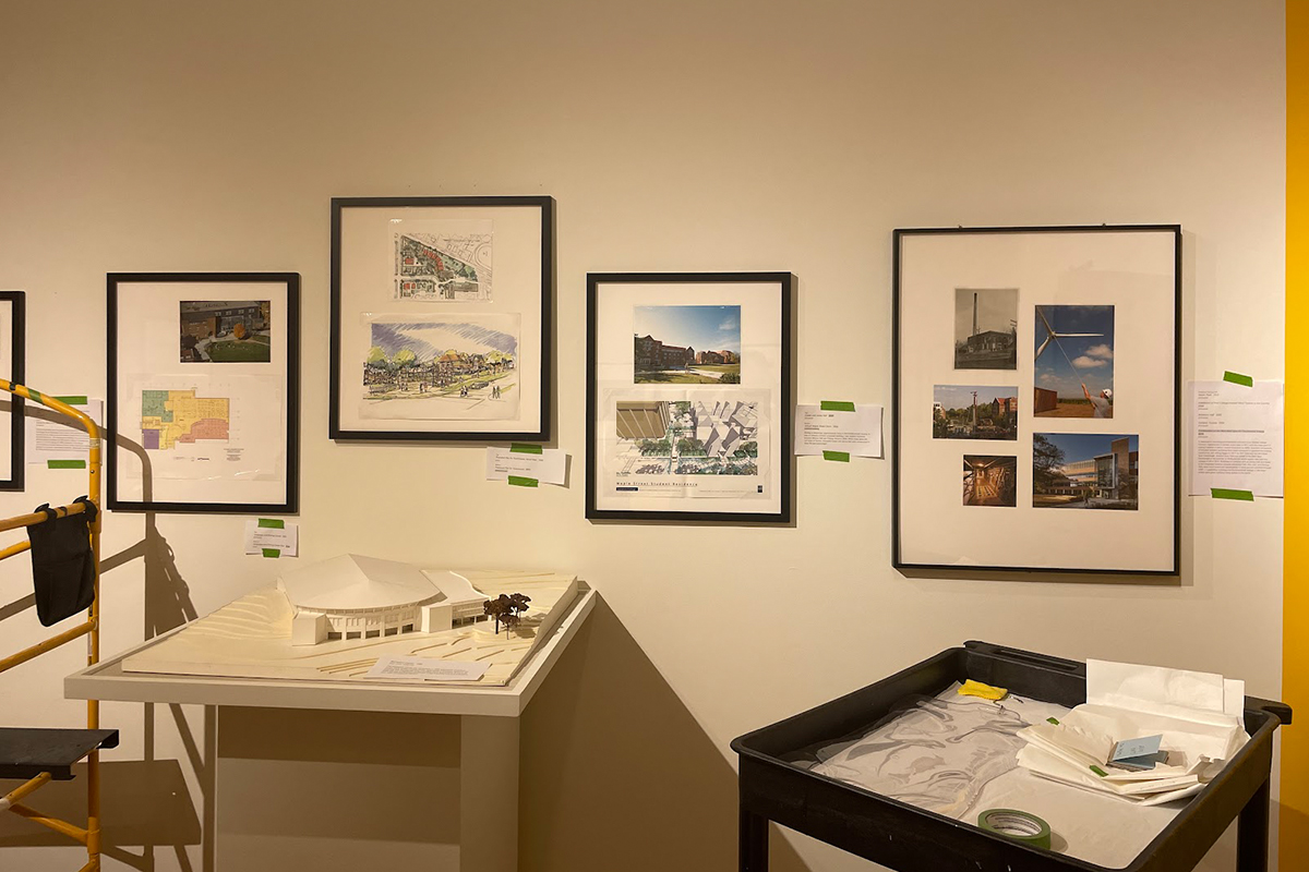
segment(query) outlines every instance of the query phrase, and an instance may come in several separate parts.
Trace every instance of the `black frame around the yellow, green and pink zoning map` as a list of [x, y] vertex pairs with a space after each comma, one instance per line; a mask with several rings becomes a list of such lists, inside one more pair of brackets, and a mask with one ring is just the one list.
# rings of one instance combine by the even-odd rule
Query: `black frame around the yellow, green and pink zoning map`
[[[173, 502], [120, 499], [118, 495], [118, 303], [122, 284], [279, 284], [287, 288], [287, 404], [285, 499], [281, 502]], [[105, 439], [109, 482], [106, 506], [110, 511], [220, 515], [293, 515], [300, 511], [300, 273], [296, 272], [111, 272], [106, 276], [107, 397]]]

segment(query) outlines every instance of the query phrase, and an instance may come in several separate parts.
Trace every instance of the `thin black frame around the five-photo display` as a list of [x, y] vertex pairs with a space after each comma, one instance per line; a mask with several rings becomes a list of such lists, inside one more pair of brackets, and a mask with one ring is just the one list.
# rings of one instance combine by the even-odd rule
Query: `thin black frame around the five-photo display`
[[[953, 565], [927, 563], [903, 560], [901, 549], [902, 511], [901, 498], [903, 478], [901, 461], [903, 455], [903, 433], [901, 428], [901, 352], [902, 327], [902, 243], [915, 235], [953, 234], [1101, 234], [1101, 233], [1166, 233], [1173, 237], [1173, 488], [1172, 488], [1172, 566], [1156, 569], [1100, 569], [1075, 566], [1026, 566], [1026, 565]], [[1121, 225], [1039, 225], [1039, 226], [982, 226], [982, 227], [901, 227], [893, 233], [891, 244], [891, 566], [903, 573], [931, 571], [967, 577], [977, 573], [1013, 574], [1062, 574], [1081, 577], [1141, 577], [1175, 578], [1181, 574], [1182, 560], [1182, 226], [1179, 224], [1121, 224]]]

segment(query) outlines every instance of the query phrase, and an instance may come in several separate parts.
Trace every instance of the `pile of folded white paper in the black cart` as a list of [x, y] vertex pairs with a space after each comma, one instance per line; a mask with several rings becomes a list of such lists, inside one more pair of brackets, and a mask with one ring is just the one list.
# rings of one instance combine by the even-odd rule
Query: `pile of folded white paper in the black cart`
[[[1018, 765], [1064, 784], [1157, 805], [1198, 794], [1249, 740], [1245, 682], [1206, 672], [1086, 662], [1086, 702], [1058, 724], [1018, 733]], [[1168, 761], [1144, 771], [1109, 765], [1117, 743], [1162, 736]]]

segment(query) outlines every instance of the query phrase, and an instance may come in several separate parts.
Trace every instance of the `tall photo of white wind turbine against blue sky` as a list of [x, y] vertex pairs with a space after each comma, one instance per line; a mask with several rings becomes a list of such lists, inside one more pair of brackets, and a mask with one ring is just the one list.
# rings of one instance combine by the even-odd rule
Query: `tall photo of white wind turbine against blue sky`
[[1114, 417], [1114, 307], [1037, 306], [1034, 335], [1033, 414]]

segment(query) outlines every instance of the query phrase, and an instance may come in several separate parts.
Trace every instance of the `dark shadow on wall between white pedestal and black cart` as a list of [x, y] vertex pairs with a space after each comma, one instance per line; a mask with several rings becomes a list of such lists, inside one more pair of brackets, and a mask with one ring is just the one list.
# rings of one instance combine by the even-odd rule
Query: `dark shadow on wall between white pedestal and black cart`
[[[520, 872], [737, 868], [736, 770], [603, 599], [522, 715]], [[772, 872], [809, 872], [774, 829]]]

